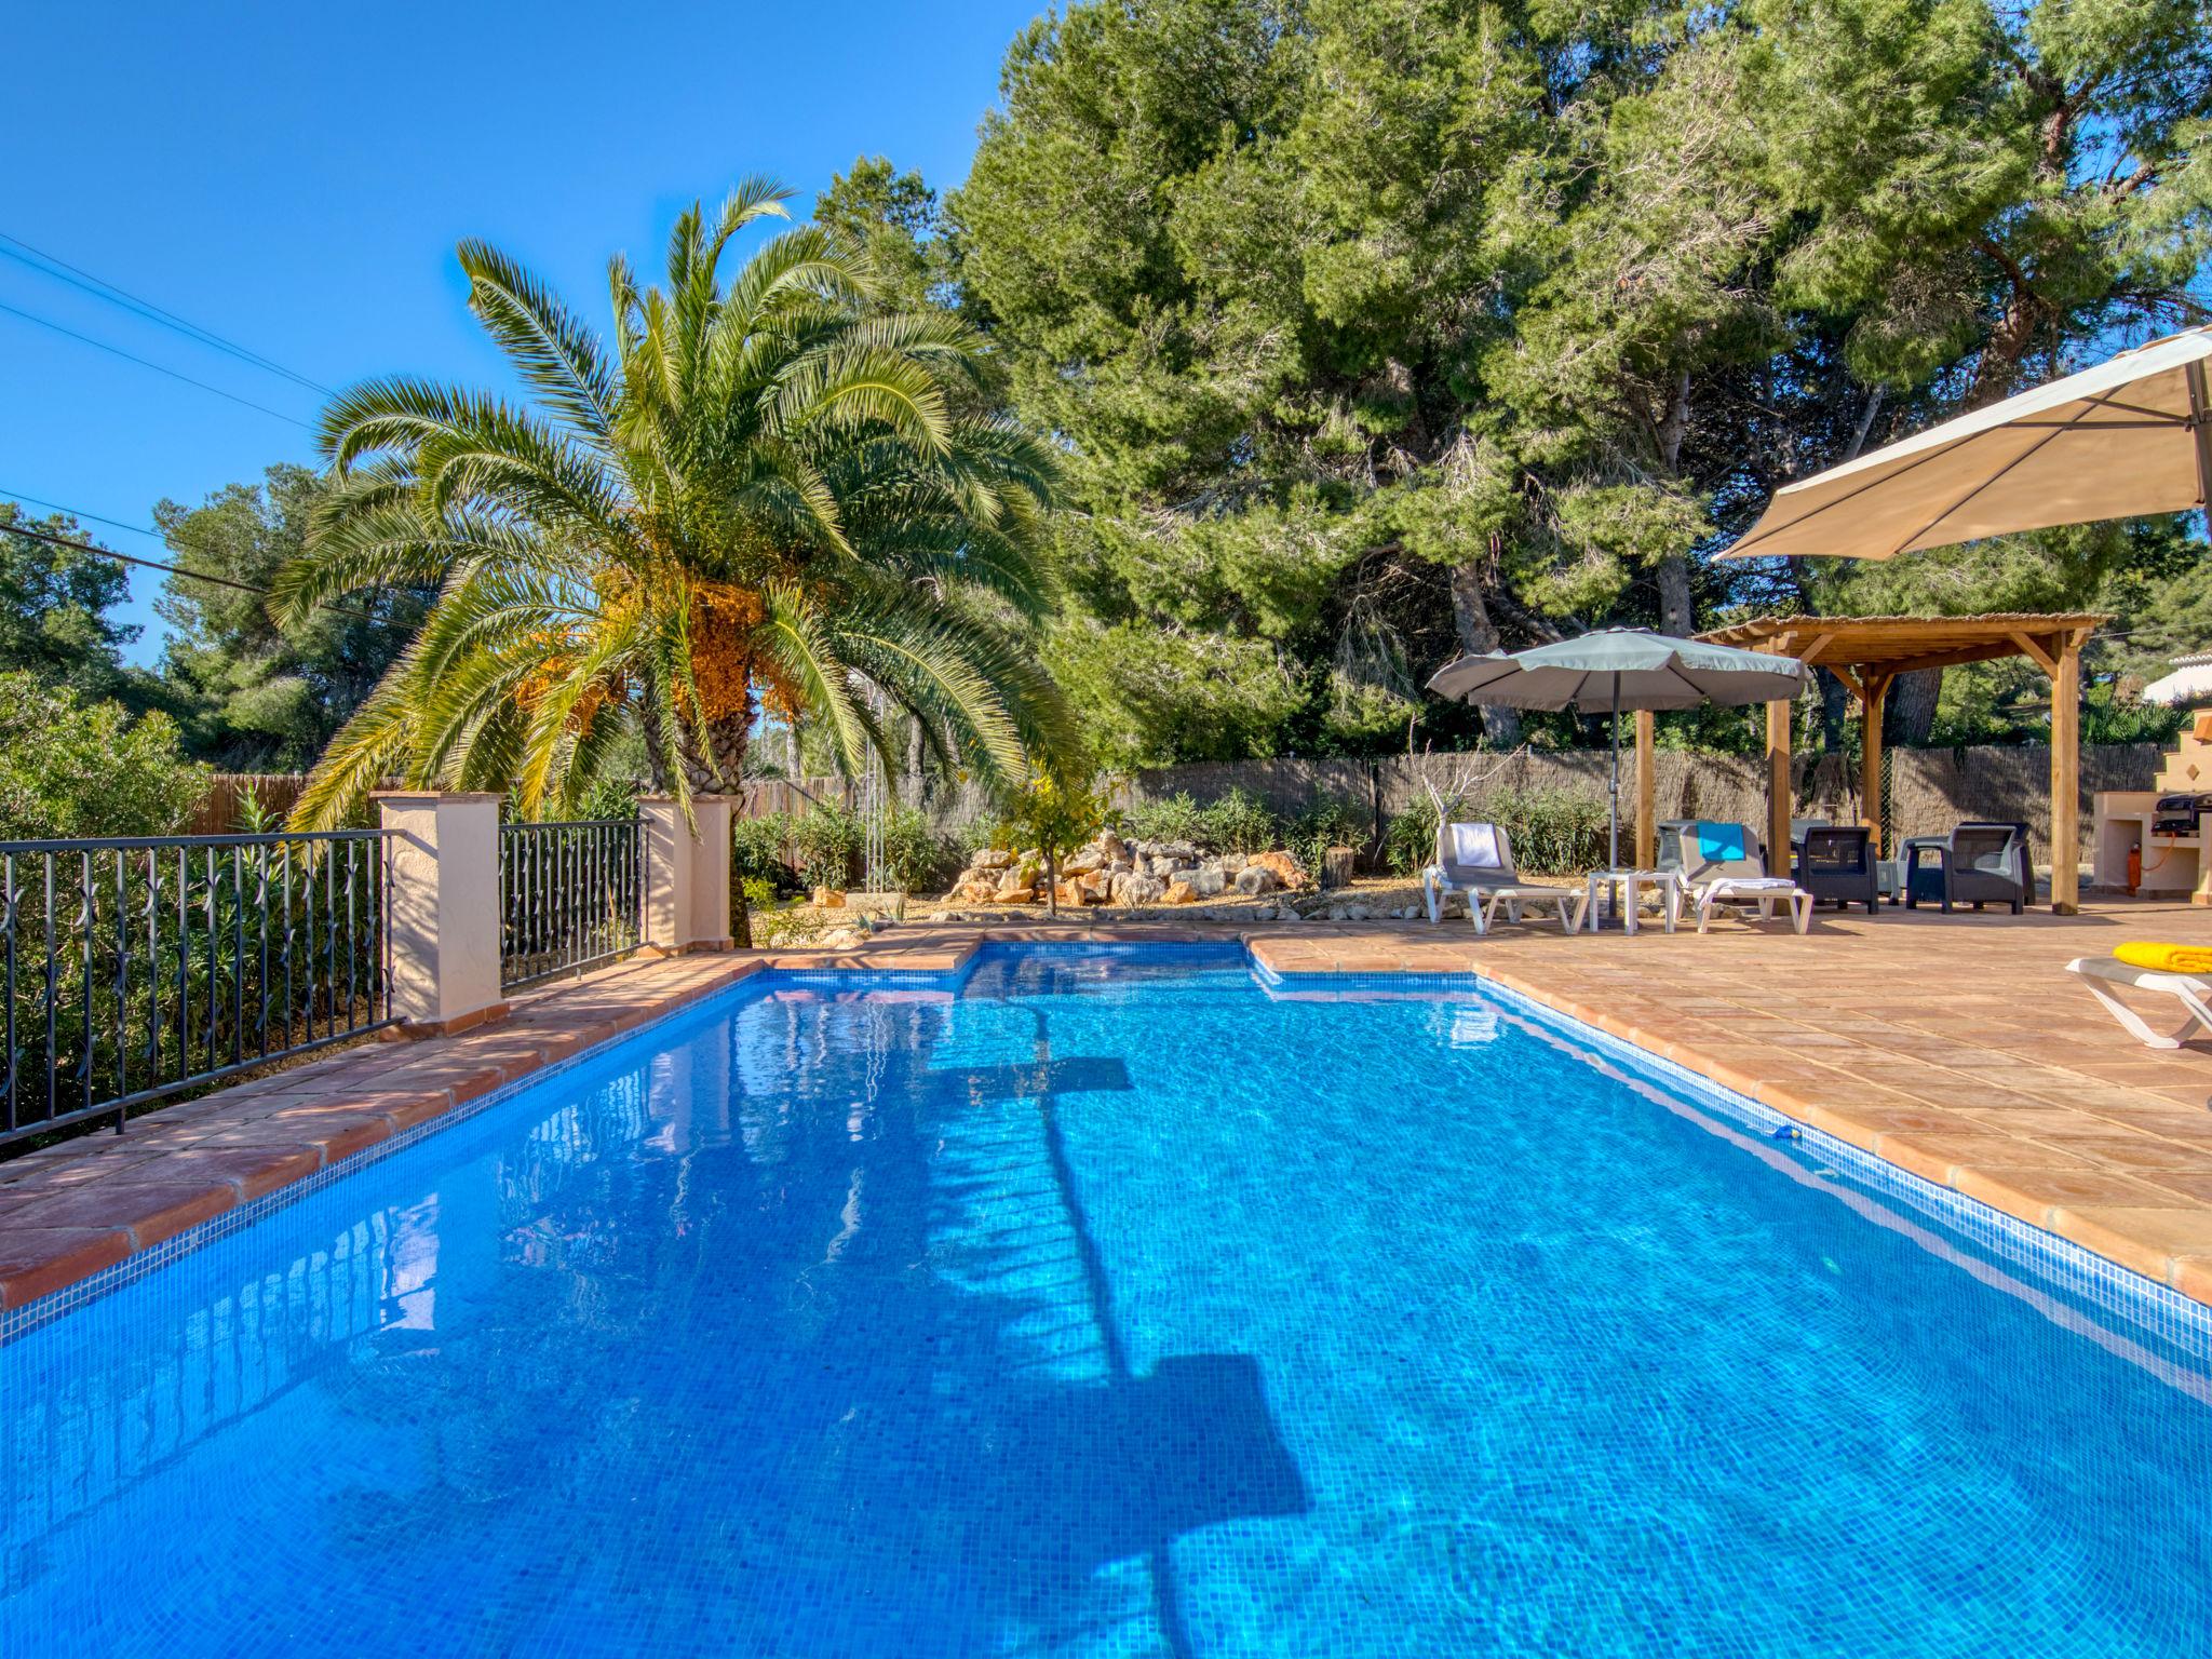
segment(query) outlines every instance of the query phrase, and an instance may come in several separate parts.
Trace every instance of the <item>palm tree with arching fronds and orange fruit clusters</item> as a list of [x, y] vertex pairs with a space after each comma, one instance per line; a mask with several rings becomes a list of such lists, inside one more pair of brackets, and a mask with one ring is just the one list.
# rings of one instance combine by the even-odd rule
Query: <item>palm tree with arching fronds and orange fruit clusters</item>
[[1048, 606], [1048, 447], [984, 398], [975, 336], [869, 305], [865, 259], [801, 226], [721, 281], [730, 239], [787, 217], [741, 184], [677, 219], [666, 288], [608, 268], [615, 349], [498, 250], [469, 307], [533, 407], [411, 378], [325, 409], [334, 489], [276, 582], [283, 615], [434, 586], [420, 633], [332, 739], [296, 825], [378, 779], [573, 810], [630, 728], [653, 781], [734, 785], [765, 710], [821, 721], [843, 765], [883, 712], [987, 783], [1073, 721], [1022, 628]]

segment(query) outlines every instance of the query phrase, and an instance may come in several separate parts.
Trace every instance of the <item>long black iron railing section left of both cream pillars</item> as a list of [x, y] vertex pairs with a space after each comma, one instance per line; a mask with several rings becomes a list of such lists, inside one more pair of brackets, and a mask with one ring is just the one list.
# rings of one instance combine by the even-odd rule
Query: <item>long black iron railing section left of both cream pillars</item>
[[0, 1146], [392, 1024], [378, 830], [0, 843]]

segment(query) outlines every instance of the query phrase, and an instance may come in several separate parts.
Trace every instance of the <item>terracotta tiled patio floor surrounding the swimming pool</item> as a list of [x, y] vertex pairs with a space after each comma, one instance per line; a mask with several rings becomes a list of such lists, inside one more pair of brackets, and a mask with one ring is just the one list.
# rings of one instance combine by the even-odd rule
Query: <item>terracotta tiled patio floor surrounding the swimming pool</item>
[[[989, 938], [1237, 938], [1172, 920], [1009, 925]], [[2212, 1048], [2150, 1051], [2062, 971], [2124, 938], [2212, 945], [2212, 911], [1823, 914], [1809, 936], [1478, 940], [1467, 922], [1256, 925], [1279, 973], [1478, 971], [1931, 1181], [2212, 1303]], [[66, 1287], [763, 962], [945, 971], [984, 929], [854, 951], [690, 956], [540, 991], [498, 1026], [367, 1044], [0, 1164], [0, 1307]], [[2163, 1020], [2163, 1009], [2159, 1011]]]

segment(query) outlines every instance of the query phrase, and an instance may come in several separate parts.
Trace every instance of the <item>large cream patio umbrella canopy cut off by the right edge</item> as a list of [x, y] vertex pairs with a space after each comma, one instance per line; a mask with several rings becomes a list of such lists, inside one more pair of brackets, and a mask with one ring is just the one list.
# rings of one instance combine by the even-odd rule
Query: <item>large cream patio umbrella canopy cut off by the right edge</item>
[[1944, 420], [1774, 491], [1723, 560], [1887, 560], [2212, 498], [2212, 327]]

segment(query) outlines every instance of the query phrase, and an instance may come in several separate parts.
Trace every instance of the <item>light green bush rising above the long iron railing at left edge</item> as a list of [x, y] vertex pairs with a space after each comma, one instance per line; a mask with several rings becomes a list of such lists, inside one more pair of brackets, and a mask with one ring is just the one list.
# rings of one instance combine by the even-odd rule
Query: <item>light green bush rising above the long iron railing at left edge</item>
[[166, 836], [208, 792], [161, 710], [131, 719], [29, 670], [0, 672], [0, 836]]

